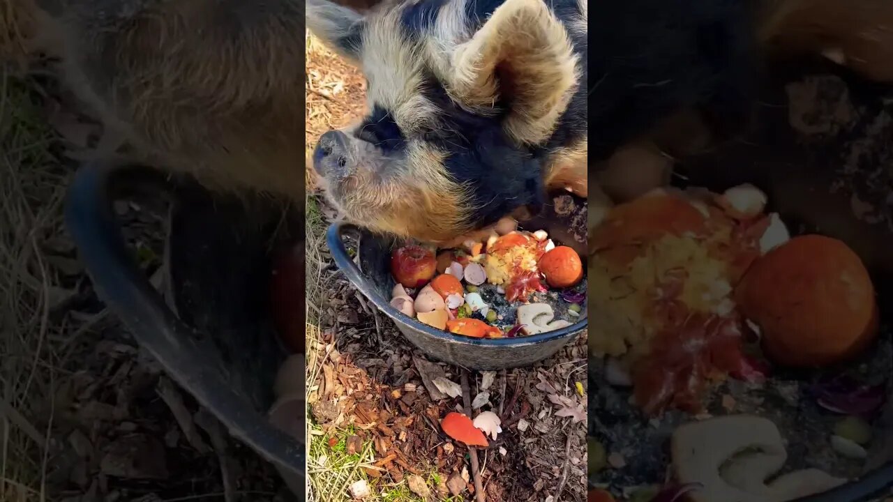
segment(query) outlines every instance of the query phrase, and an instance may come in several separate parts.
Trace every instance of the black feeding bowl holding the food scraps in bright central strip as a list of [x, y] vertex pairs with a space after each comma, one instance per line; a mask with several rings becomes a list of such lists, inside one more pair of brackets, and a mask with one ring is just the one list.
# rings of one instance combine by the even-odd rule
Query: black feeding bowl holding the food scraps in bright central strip
[[[584, 206], [582, 222], [585, 222], [585, 202], [580, 204]], [[547, 208], [547, 213], [550, 210], [554, 210], [554, 207]], [[358, 264], [348, 254], [345, 246], [345, 234], [348, 230], [353, 231], [359, 237], [356, 247]], [[538, 229], [531, 227], [531, 230]], [[549, 231], [549, 234], [555, 237], [562, 235], [568, 239], [572, 238], [566, 233], [566, 230], [563, 234], [558, 230]], [[587, 309], [585, 305], [581, 305], [583, 308], [580, 311], [579, 321], [574, 322], [571, 326], [532, 336], [475, 339], [432, 328], [402, 314], [389, 303], [391, 290], [396, 285], [389, 268], [391, 250], [396, 245], [393, 238], [375, 236], [353, 225], [335, 223], [330, 227], [327, 239], [335, 263], [355, 288], [369, 298], [381, 312], [387, 314], [415, 347], [419, 347], [422, 352], [435, 359], [473, 370], [522, 367], [552, 356], [561, 347], [580, 335], [583, 330], [586, 330]], [[497, 294], [488, 288], [492, 287], [481, 287], [481, 296], [489, 300], [495, 299]], [[544, 301], [553, 305], [555, 309], [556, 319], [566, 318], [561, 314], [567, 310], [568, 304], [561, 300], [555, 292], [547, 293], [545, 296]], [[516, 305], [503, 305], [503, 308], [500, 309], [500, 312], [505, 313], [505, 321], [511, 321], [509, 316], [513, 316], [514, 306]]]

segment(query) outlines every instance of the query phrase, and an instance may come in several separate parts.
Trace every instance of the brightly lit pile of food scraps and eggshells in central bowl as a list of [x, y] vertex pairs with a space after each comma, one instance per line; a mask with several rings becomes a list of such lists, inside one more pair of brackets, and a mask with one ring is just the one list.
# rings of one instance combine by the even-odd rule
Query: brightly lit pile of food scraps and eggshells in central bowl
[[459, 248], [396, 247], [390, 304], [471, 338], [533, 335], [577, 322], [586, 297], [580, 255], [544, 230], [504, 230]]

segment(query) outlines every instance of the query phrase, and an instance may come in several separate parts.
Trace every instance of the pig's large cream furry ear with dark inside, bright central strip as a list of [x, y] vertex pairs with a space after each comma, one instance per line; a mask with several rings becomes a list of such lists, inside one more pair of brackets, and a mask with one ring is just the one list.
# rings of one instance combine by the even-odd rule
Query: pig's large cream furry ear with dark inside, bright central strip
[[543, 0], [506, 0], [453, 55], [450, 92], [486, 113], [507, 106], [505, 130], [522, 144], [547, 139], [579, 85], [567, 29]]

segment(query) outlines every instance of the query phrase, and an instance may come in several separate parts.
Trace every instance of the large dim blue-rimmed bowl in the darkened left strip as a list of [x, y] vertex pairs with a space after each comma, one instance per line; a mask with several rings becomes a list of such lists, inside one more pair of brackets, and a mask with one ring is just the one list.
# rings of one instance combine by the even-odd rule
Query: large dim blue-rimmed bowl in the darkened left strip
[[[114, 202], [135, 194], [163, 194], [172, 202], [165, 297], [139, 269], [115, 221]], [[271, 236], [288, 240], [287, 232], [275, 231], [282, 227], [281, 211], [213, 198], [193, 183], [148, 169], [86, 165], [71, 185], [65, 216], [97, 295], [139, 345], [303, 495], [304, 445], [268, 419], [276, 372], [288, 356], [266, 294]], [[303, 214], [292, 215], [286, 226], [303, 236]], [[304, 297], [295, 302], [304, 308]]]

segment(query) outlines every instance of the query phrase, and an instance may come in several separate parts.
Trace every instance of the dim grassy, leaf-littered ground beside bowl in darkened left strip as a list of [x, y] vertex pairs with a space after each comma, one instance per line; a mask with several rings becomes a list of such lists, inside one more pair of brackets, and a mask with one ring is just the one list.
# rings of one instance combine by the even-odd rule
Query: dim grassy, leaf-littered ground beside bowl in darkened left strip
[[[0, 84], [0, 500], [287, 500], [96, 298], [62, 216], [102, 129], [52, 70], [3, 70]], [[115, 209], [157, 279], [165, 207]]]

